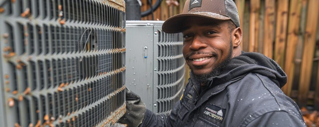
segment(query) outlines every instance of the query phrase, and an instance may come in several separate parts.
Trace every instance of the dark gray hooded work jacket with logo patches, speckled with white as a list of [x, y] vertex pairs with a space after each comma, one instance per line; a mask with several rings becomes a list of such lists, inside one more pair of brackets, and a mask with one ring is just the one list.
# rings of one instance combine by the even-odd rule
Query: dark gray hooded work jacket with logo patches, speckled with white
[[192, 78], [170, 114], [147, 110], [140, 126], [305, 126], [296, 103], [280, 90], [286, 74], [262, 54], [243, 52], [234, 57], [204, 90]]

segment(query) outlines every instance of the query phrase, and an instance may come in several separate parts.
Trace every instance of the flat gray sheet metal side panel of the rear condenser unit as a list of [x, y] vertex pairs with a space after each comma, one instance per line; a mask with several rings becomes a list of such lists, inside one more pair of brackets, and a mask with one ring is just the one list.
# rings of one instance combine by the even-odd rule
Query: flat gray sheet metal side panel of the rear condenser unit
[[[153, 26], [126, 24], [126, 87], [137, 93], [146, 108], [153, 106]], [[150, 35], [151, 34], [151, 35]], [[145, 56], [147, 58], [145, 58]]]

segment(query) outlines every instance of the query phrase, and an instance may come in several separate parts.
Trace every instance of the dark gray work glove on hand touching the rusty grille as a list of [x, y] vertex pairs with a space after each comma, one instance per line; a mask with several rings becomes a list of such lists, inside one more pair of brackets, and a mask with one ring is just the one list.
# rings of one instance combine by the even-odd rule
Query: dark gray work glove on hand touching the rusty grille
[[144, 119], [146, 106], [137, 94], [131, 92], [128, 88], [125, 88], [125, 91], [126, 112], [118, 123], [127, 124], [128, 127], [138, 127]]

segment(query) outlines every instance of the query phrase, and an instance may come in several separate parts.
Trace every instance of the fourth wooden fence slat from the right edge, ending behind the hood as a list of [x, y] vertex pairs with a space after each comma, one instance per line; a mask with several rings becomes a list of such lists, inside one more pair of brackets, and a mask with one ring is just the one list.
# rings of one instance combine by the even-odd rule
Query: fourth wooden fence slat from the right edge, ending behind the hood
[[265, 1], [263, 54], [272, 58], [275, 25], [275, 0]]

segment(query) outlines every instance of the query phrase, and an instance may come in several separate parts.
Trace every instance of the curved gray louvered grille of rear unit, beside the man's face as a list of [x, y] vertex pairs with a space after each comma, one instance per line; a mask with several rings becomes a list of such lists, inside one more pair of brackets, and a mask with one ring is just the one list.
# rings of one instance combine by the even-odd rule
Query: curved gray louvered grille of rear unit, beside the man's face
[[182, 54], [181, 33], [167, 34], [159, 31], [157, 113], [169, 113], [180, 99], [185, 81], [185, 59]]

